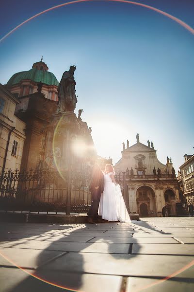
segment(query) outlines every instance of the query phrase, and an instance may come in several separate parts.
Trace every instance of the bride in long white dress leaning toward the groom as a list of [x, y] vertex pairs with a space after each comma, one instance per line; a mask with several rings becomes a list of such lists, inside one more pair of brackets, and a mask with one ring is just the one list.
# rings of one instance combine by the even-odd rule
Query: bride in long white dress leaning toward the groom
[[115, 182], [114, 168], [106, 164], [104, 171], [104, 191], [101, 194], [98, 215], [109, 221], [130, 222], [120, 185]]

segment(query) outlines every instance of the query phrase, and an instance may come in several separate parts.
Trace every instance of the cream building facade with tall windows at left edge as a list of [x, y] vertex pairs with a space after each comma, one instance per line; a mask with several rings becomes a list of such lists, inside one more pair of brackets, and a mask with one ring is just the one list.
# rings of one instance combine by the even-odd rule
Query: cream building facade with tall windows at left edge
[[0, 84], [0, 172], [20, 169], [25, 122], [16, 117], [19, 100]]

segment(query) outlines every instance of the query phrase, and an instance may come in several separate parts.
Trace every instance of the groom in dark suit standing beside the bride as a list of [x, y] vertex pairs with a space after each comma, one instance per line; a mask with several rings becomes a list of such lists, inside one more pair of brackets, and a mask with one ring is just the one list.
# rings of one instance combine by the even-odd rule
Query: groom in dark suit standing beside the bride
[[[97, 163], [99, 162], [97, 161]], [[95, 223], [95, 221], [104, 222], [97, 214], [101, 193], [104, 190], [104, 175], [97, 163], [93, 166], [92, 178], [89, 185], [89, 191], [92, 195], [92, 204], [88, 211], [88, 223], [90, 224]]]

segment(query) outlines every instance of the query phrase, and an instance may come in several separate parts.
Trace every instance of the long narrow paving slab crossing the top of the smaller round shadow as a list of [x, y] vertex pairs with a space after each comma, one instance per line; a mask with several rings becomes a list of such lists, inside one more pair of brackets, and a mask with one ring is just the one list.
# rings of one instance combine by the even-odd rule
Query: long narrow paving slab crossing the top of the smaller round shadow
[[89, 242], [178, 244], [178, 241], [171, 237], [94, 237], [93, 239], [89, 240]]

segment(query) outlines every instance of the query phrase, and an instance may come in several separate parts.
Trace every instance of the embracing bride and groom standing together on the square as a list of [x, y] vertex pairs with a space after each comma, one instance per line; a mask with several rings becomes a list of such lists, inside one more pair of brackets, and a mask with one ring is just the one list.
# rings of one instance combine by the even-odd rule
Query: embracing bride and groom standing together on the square
[[88, 223], [105, 220], [130, 222], [120, 185], [114, 179], [113, 165], [106, 164], [103, 173], [98, 164], [94, 165], [89, 191], [92, 204], [88, 211]]

